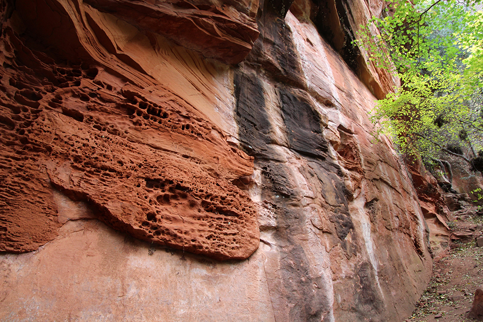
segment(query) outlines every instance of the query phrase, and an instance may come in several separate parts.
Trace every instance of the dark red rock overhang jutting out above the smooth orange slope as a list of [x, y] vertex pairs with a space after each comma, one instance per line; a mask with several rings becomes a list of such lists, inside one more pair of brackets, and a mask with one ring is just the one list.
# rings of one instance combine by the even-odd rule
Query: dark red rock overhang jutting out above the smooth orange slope
[[[137, 28], [166, 36], [176, 43], [228, 64], [242, 61], [259, 35], [255, 22], [258, 1], [243, 6], [217, 6], [217, 2], [132, 2], [89, 0], [87, 4], [131, 23]], [[238, 10], [237, 10], [238, 9]]]

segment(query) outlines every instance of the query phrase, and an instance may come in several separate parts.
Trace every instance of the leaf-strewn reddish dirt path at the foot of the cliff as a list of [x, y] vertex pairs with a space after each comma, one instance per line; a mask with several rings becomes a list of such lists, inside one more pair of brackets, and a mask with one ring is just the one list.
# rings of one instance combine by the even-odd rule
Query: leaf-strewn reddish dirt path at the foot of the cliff
[[448, 219], [448, 226], [460, 238], [434, 262], [428, 288], [407, 322], [475, 321], [465, 316], [476, 288], [483, 286], [483, 247], [477, 247], [475, 239], [483, 236], [483, 214], [471, 208], [455, 211]]

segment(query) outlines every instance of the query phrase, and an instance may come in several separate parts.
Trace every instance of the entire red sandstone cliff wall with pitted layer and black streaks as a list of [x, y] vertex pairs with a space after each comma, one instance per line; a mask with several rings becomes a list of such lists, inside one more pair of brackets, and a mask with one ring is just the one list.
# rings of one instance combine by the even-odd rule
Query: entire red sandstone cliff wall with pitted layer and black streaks
[[0, 319], [411, 314], [429, 231], [350, 41], [381, 9], [3, 1]]

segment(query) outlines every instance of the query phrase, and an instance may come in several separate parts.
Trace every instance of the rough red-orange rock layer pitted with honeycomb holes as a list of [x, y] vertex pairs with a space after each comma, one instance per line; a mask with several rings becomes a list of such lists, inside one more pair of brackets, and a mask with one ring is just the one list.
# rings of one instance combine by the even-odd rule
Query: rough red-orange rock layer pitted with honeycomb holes
[[251, 175], [252, 158], [203, 113], [161, 85], [61, 66], [6, 34], [3, 251], [32, 251], [56, 235], [55, 189], [159, 245], [219, 260], [257, 249], [252, 202], [232, 184]]

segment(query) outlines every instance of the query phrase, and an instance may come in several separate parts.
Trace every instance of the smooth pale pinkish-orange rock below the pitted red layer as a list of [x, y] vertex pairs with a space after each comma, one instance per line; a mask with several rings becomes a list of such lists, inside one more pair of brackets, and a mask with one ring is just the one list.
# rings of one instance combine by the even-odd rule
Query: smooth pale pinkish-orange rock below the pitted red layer
[[[220, 263], [153, 248], [97, 220], [3, 255], [2, 321], [274, 321], [263, 258]], [[243, 283], [240, 283], [243, 281]]]

